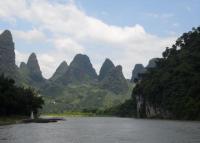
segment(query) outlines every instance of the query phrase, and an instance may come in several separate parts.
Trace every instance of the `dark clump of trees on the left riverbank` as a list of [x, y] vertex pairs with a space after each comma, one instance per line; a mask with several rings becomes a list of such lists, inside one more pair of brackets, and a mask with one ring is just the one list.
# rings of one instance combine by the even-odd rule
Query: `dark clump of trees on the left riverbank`
[[17, 87], [13, 79], [0, 76], [0, 116], [29, 116], [37, 113], [43, 103], [34, 90]]

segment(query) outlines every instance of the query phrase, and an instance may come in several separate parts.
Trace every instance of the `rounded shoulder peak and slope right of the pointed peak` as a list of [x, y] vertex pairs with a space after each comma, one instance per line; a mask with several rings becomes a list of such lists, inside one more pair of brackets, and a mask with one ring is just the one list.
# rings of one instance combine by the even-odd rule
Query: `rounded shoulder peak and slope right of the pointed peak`
[[128, 83], [122, 73], [122, 66], [116, 66], [111, 69], [102, 80], [101, 86], [116, 94], [126, 92], [128, 90]]

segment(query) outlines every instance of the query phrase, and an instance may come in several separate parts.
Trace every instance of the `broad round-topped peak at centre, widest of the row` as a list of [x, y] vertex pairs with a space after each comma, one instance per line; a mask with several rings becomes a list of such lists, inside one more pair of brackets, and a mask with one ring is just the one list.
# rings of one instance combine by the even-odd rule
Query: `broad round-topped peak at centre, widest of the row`
[[70, 63], [67, 72], [58, 80], [63, 84], [95, 81], [97, 74], [87, 55], [77, 54]]

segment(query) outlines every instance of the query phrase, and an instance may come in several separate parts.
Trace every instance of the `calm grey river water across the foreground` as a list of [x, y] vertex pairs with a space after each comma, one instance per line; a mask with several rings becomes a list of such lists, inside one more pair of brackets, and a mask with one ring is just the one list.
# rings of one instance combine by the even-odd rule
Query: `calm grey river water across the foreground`
[[200, 123], [82, 117], [0, 126], [0, 143], [200, 143]]

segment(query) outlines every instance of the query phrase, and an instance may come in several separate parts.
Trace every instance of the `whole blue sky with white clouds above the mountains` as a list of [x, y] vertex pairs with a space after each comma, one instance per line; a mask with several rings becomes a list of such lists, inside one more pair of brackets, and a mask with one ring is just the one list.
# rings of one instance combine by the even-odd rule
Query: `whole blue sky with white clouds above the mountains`
[[79, 53], [97, 73], [109, 58], [131, 78], [199, 26], [199, 13], [199, 0], [0, 0], [0, 32], [13, 34], [17, 65], [36, 53], [45, 78]]

